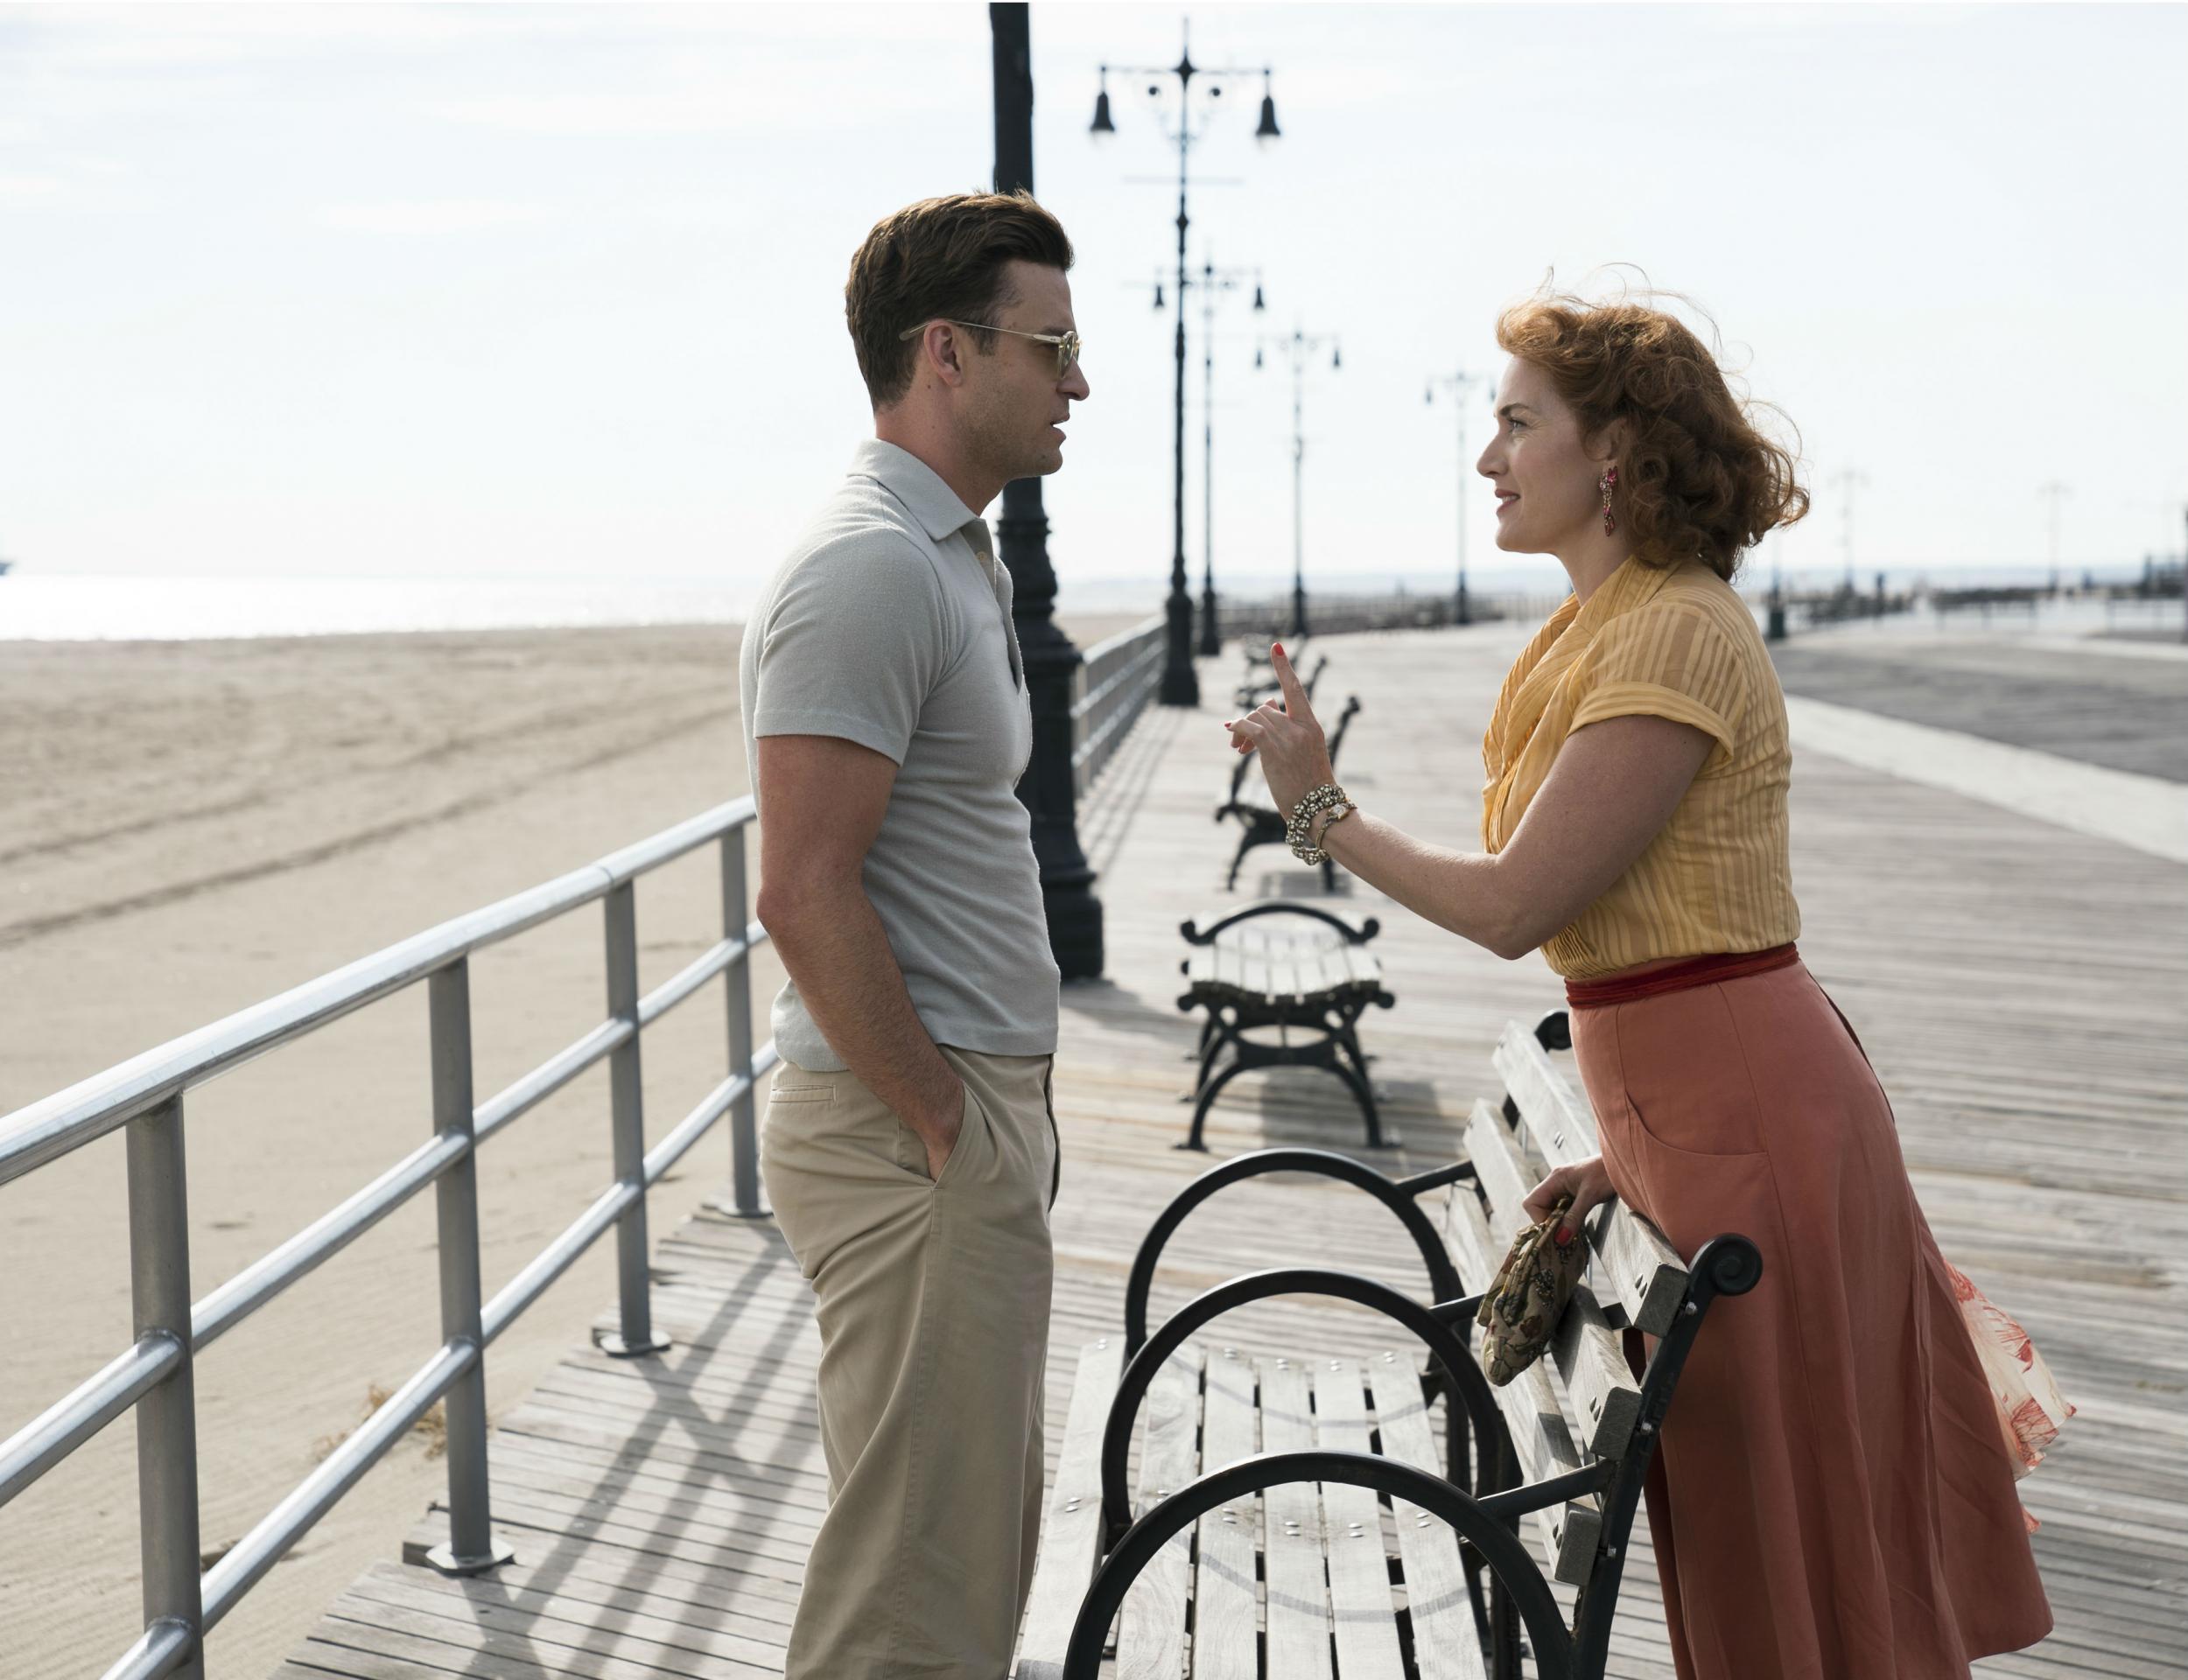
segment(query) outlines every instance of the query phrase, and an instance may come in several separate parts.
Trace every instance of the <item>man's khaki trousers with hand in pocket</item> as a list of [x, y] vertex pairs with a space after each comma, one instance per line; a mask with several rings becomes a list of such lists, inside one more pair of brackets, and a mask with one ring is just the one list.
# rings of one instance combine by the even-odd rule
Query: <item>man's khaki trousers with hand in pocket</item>
[[821, 1321], [829, 1509], [788, 1680], [1000, 1680], [1041, 1527], [1052, 1057], [941, 1046], [965, 1124], [926, 1144], [853, 1074], [783, 1063], [759, 1168]]

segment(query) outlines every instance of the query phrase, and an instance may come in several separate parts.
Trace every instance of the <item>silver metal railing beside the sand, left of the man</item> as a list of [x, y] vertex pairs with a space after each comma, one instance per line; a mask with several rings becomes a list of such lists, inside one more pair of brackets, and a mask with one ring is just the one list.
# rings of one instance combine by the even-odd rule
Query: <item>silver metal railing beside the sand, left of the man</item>
[[[750, 822], [753, 801], [731, 801], [597, 864], [446, 921], [0, 1118], [0, 1183], [94, 1138], [127, 1133], [136, 1341], [0, 1442], [0, 1505], [7, 1505], [109, 1422], [136, 1409], [144, 1634], [107, 1669], [107, 1680], [201, 1676], [203, 1636], [442, 1398], [449, 1544], [435, 1549], [429, 1562], [455, 1575], [508, 1562], [490, 1533], [486, 1492], [486, 1350], [494, 1337], [613, 1225], [621, 1319], [619, 1332], [602, 1345], [613, 1354], [665, 1348], [652, 1330], [645, 1192], [724, 1113], [731, 1116], [733, 1208], [746, 1216], [761, 1212], [753, 1092], [777, 1057], [772, 1043], [753, 1048], [748, 958], [766, 930], [748, 921], [744, 836]], [[635, 882], [715, 842], [722, 851], [722, 938], [672, 980], [641, 995]], [[470, 1087], [470, 954], [595, 899], [604, 908], [608, 1019], [508, 1089], [477, 1102]], [[641, 1032], [715, 976], [724, 978], [729, 993], [729, 1076], [648, 1151], [639, 1096]], [[330, 1214], [193, 1302], [184, 1096], [214, 1074], [420, 980], [431, 1019], [431, 1140]], [[615, 1183], [499, 1295], [481, 1302], [479, 1144], [604, 1059], [610, 1070]], [[440, 1218], [442, 1345], [243, 1540], [199, 1573], [195, 1356], [429, 1183], [435, 1188]]]

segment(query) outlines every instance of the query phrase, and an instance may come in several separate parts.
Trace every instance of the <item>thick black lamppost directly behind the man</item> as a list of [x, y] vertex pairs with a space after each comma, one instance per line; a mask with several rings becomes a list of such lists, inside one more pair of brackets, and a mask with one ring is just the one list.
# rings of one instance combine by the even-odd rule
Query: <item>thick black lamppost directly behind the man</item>
[[[987, 15], [996, 44], [996, 190], [1031, 192], [1033, 57], [1026, 7], [991, 4]], [[1011, 623], [1033, 711], [1033, 755], [1017, 779], [1017, 798], [1033, 818], [1048, 949], [1066, 980], [1096, 980], [1103, 969], [1101, 899], [1079, 844], [1079, 798], [1072, 790], [1072, 672], [1083, 661], [1057, 626], [1057, 571], [1048, 562], [1039, 479], [1011, 479], [1002, 488], [996, 547], [1011, 573]]]

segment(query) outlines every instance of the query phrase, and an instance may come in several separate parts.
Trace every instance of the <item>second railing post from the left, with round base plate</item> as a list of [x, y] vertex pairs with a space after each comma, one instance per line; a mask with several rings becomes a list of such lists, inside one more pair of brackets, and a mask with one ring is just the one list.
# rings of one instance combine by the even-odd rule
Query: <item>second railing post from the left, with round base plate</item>
[[[470, 960], [427, 976], [433, 1039], [433, 1131], [473, 1142]], [[464, 1155], [433, 1186], [440, 1229], [440, 1339], [468, 1343], [477, 1358], [449, 1389], [449, 1544], [424, 1562], [442, 1575], [479, 1575], [516, 1553], [494, 1542], [486, 1490], [486, 1330], [479, 1326], [479, 1155]]]

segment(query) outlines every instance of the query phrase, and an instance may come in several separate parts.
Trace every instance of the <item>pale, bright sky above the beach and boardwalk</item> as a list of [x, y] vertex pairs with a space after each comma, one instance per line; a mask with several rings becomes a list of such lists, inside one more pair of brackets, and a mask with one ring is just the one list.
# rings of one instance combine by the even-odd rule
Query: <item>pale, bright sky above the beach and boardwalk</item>
[[[1035, 4], [1035, 186], [1079, 249], [1094, 396], [1048, 481], [1070, 580], [1171, 560], [1173, 7]], [[2181, 545], [2188, 9], [1192, 9], [1269, 63], [1195, 147], [1217, 573], [1455, 547], [1455, 411], [1497, 308], [1634, 262], [1803, 433], [1794, 569]], [[753, 580], [871, 429], [842, 328], [888, 210], [985, 188], [985, 4], [0, 7], [0, 556], [42, 573]], [[1166, 295], [1171, 287], [1166, 284]], [[1188, 558], [1201, 564], [1199, 313]], [[1468, 422], [1479, 451], [1486, 387]], [[1468, 492], [1475, 567], [1510, 567]], [[1538, 562], [1553, 578], [1553, 562]]]

